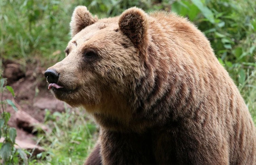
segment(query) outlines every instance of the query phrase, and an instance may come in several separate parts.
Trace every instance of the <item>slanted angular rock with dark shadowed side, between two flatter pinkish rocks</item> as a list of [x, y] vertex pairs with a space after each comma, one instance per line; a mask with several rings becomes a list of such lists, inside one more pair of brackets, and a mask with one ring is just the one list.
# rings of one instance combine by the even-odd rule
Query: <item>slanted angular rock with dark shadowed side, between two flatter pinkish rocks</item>
[[38, 128], [46, 132], [50, 131], [50, 129], [47, 126], [43, 125], [38, 120], [36, 120], [31, 115], [22, 110], [18, 110], [16, 112], [15, 119], [17, 126], [19, 128], [23, 128], [25, 131], [35, 133], [35, 130], [38, 130]]

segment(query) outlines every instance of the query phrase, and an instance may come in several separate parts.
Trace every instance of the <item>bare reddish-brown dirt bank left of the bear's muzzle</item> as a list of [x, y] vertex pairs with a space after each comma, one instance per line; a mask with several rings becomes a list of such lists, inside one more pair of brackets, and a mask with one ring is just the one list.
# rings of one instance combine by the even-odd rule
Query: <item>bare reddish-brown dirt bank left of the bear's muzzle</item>
[[[43, 123], [45, 109], [54, 111], [65, 111], [64, 103], [54, 98], [48, 91], [47, 82], [44, 77], [45, 68], [40, 67], [40, 62], [36, 61], [22, 67], [18, 62], [3, 60], [3, 77], [7, 78], [7, 85], [12, 86], [15, 98], [10, 92], [4, 92], [3, 99], [11, 99], [17, 108], [30, 114], [39, 122]], [[5, 111], [11, 113], [8, 124], [17, 130], [17, 140], [35, 144], [35, 138], [31, 132], [19, 128], [15, 115], [16, 112], [10, 105], [6, 105]], [[22, 116], [20, 116], [22, 117]]]

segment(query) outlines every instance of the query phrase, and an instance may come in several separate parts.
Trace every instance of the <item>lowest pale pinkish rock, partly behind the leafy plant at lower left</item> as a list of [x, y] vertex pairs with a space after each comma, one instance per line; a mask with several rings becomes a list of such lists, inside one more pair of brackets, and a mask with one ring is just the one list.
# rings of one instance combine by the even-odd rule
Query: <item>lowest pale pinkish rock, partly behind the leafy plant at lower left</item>
[[[0, 139], [0, 142], [2, 143], [4, 141], [4, 138]], [[20, 141], [18, 139], [15, 140], [15, 148], [21, 148], [21, 149], [25, 149], [28, 150], [30, 153], [32, 153], [32, 156], [35, 156], [38, 153], [44, 152], [44, 148], [37, 146], [35, 144], [26, 142], [26, 141]]]

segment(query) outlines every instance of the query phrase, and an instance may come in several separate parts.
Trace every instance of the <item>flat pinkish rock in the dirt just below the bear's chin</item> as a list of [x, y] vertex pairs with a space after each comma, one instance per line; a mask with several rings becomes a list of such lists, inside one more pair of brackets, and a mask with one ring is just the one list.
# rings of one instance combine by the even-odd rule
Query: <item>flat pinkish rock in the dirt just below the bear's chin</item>
[[[33, 106], [41, 110], [49, 109], [59, 112], [65, 111], [64, 102], [57, 100], [56, 98], [38, 98]], [[69, 105], [67, 105], [67, 107], [71, 108]]]

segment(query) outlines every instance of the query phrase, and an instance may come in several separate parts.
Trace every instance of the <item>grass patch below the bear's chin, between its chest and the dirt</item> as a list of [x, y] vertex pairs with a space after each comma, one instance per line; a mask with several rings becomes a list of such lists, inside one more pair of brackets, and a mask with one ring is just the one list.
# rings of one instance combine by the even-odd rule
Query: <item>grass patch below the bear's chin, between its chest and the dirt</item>
[[52, 128], [51, 133], [37, 135], [39, 144], [46, 152], [37, 154], [31, 164], [83, 164], [97, 137], [95, 124], [82, 109], [66, 109], [65, 113], [46, 112], [45, 124]]

